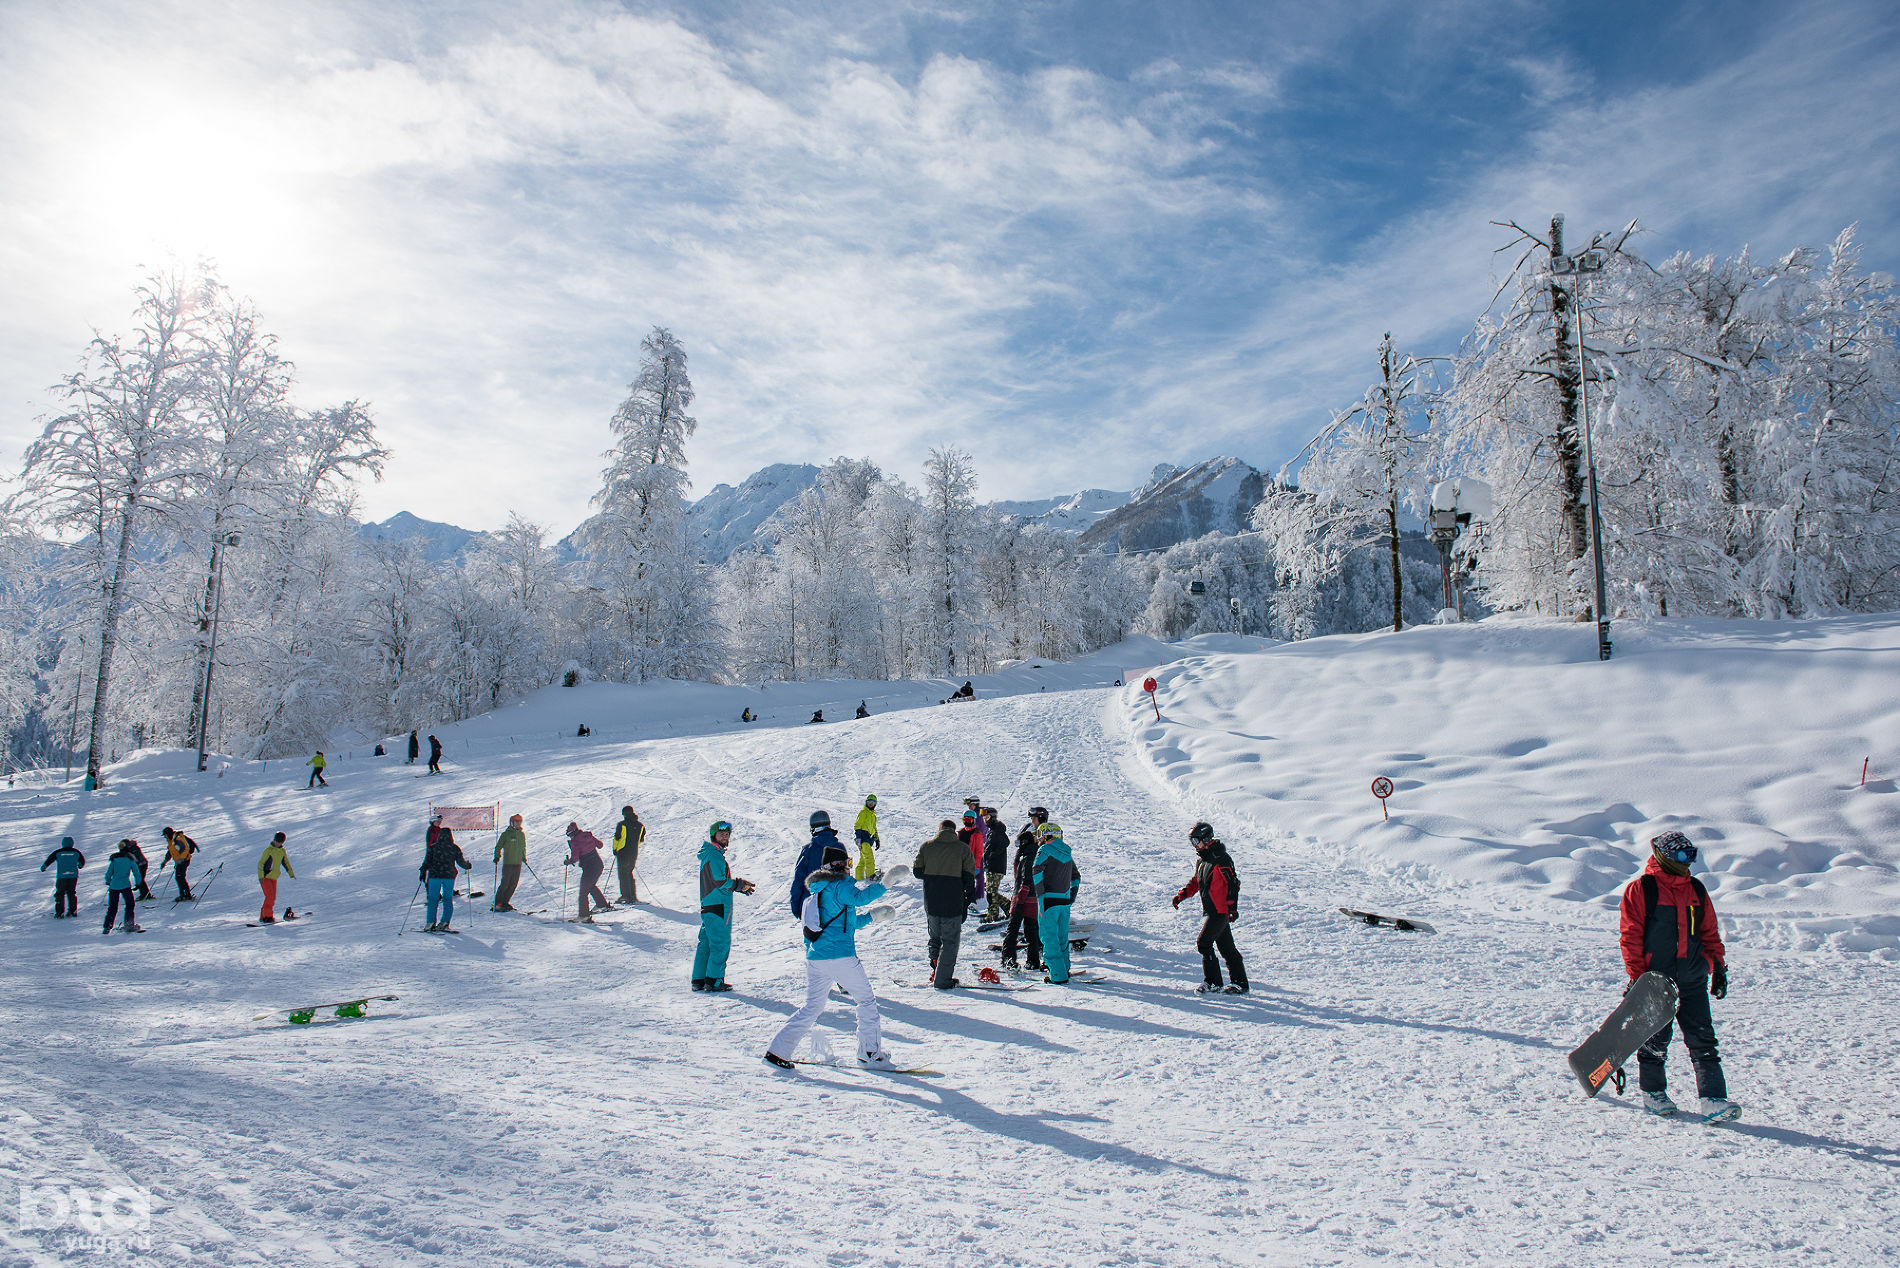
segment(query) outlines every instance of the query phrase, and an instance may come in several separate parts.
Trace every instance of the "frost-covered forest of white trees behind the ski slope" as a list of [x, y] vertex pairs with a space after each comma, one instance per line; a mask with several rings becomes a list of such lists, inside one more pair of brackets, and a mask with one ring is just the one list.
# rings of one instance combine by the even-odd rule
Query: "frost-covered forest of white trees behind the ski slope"
[[656, 327], [568, 549], [513, 515], [431, 563], [359, 530], [390, 460], [370, 411], [298, 401], [251, 304], [156, 276], [53, 388], [6, 500], [10, 770], [200, 740], [300, 753], [580, 677], [948, 679], [1130, 633], [1425, 622], [1438, 565], [1416, 525], [1448, 477], [1493, 489], [1459, 542], [1474, 601], [1585, 618], [1592, 449], [1613, 612], [1900, 606], [1900, 304], [1851, 230], [1661, 262], [1596, 234], [1569, 247], [1602, 253], [1583, 281], [1552, 268], [1573, 259], [1562, 219], [1499, 234], [1509, 268], [1463, 344], [1370, 344], [1364, 397], [1269, 485], [1254, 532], [1129, 555], [988, 509], [975, 458], [942, 443], [908, 477], [828, 462], [709, 567], [686, 530], [688, 354]]

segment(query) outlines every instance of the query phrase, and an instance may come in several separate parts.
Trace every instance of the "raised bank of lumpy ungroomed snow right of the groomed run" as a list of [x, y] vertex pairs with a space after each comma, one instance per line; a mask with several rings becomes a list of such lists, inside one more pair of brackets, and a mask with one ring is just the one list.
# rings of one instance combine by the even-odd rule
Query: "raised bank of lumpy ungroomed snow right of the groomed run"
[[1514, 618], [1206, 654], [1159, 673], [1163, 722], [1127, 707], [1186, 797], [1322, 857], [1602, 909], [1682, 829], [1752, 932], [1900, 958], [1900, 620], [1615, 635], [1609, 663]]

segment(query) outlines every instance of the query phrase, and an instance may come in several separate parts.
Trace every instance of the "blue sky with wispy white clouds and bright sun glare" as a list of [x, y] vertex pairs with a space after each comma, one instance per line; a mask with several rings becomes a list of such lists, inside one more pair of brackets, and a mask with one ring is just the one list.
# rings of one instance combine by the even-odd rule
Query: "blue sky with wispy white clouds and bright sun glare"
[[566, 532], [640, 336], [707, 490], [958, 443], [984, 494], [1277, 468], [1490, 221], [1892, 270], [1890, 4], [0, 0], [0, 447], [217, 260], [395, 451], [361, 511]]

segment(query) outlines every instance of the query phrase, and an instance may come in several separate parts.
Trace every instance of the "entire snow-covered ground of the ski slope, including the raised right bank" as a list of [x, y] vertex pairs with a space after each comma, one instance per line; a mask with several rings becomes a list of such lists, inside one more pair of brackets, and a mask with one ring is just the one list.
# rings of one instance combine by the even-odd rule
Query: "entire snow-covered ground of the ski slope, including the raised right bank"
[[[557, 719], [598, 700], [555, 688], [517, 711], [547, 713], [542, 738], [509, 740], [505, 711], [481, 722], [492, 743], [439, 732], [439, 778], [357, 759], [308, 793], [294, 766], [215, 779], [142, 755], [93, 797], [13, 791], [0, 1179], [141, 1188], [141, 1260], [192, 1264], [1894, 1262], [1892, 648], [1900, 620], [1619, 627], [1609, 665], [1588, 629], [1524, 622], [1214, 639], [1168, 650], [1161, 724], [1106, 686], [1155, 648], [830, 726], [703, 724], [663, 703], [678, 688], [642, 717]], [[1849, 787], [1866, 755], [1868, 789]], [[1400, 785], [1391, 825], [1374, 774]], [[940, 1078], [766, 1066], [804, 992], [790, 852], [813, 808], [847, 819], [863, 793], [885, 861], [967, 793], [1011, 827], [1051, 806], [1096, 922], [1077, 968], [1110, 981], [891, 987], [887, 1046]], [[633, 802], [657, 903], [593, 928], [462, 905], [460, 935], [399, 937], [431, 800], [521, 812], [555, 901], [559, 827], [604, 835]], [[692, 855], [714, 816], [760, 892], [739, 901], [735, 990], [703, 996]], [[1241, 865], [1252, 996], [1189, 992], [1199, 918], [1168, 897], [1203, 816]], [[110, 842], [165, 823], [224, 876], [101, 937]], [[1738, 913], [1716, 1006], [1737, 1125], [1586, 1103], [1564, 1066], [1617, 1000], [1602, 895], [1653, 825], [1710, 846], [1699, 871]], [[298, 873], [281, 899], [315, 914], [247, 930], [276, 829]], [[70, 922], [34, 871], [63, 833], [91, 863]], [[484, 890], [488, 846], [466, 838]], [[517, 901], [553, 905], [534, 880]], [[876, 983], [923, 975], [918, 892], [895, 903], [861, 939]], [[1355, 926], [1341, 903], [1440, 933]], [[971, 970], [990, 941], [965, 926]], [[251, 1021], [355, 994], [401, 1000]], [[846, 1055], [849, 1009], [819, 1034]], [[1680, 1044], [1670, 1072], [1689, 1099]], [[0, 1262], [84, 1262], [80, 1232], [0, 1220]]]

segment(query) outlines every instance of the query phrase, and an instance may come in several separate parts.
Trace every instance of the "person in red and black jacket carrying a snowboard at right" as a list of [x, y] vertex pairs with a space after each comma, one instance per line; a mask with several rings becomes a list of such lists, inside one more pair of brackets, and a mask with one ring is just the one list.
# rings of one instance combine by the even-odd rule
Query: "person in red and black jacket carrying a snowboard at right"
[[[1689, 876], [1695, 844], [1682, 833], [1662, 833], [1649, 838], [1649, 865], [1644, 874], [1623, 890], [1623, 968], [1630, 981], [1644, 973], [1662, 973], [1676, 983], [1676, 1023], [1682, 1042], [1695, 1066], [1695, 1085], [1702, 1097], [1702, 1118], [1727, 1122], [1740, 1114], [1729, 1101], [1729, 1085], [1721, 1076], [1721, 1057], [1716, 1053], [1716, 1021], [1710, 996], [1729, 994], [1729, 962], [1721, 947], [1716, 905], [1700, 880]], [[1647, 1044], [1636, 1049], [1638, 1087], [1644, 1089], [1644, 1108], [1651, 1114], [1674, 1114], [1668, 1099], [1664, 1055], [1670, 1027], [1662, 1027]]]

